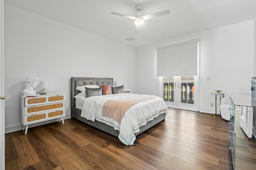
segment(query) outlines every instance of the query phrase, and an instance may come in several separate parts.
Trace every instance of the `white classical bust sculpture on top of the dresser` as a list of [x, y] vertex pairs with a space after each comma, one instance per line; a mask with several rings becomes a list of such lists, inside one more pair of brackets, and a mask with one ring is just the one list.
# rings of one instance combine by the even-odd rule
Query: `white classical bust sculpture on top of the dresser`
[[27, 77], [25, 79], [25, 89], [22, 91], [23, 95], [36, 95], [36, 86], [38, 85], [40, 78], [37, 77]]

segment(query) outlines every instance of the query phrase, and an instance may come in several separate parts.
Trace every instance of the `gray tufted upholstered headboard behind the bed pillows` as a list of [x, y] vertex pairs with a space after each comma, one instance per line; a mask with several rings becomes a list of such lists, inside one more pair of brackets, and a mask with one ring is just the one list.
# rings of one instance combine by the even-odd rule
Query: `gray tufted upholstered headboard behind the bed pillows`
[[80, 91], [76, 90], [77, 86], [84, 85], [112, 85], [113, 86], [113, 78], [88, 78], [88, 77], [71, 77], [71, 107], [75, 107], [75, 98]]

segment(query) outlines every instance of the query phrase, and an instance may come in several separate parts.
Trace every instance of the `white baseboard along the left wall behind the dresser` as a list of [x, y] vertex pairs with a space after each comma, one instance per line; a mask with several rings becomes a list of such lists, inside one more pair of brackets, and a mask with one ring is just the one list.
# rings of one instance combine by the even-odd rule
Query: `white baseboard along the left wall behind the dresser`
[[[69, 119], [69, 118], [71, 118], [71, 114], [68, 114], [64, 117], [64, 119]], [[31, 125], [28, 125], [28, 131], [29, 131], [30, 127], [45, 125], [45, 124], [52, 123], [52, 122], [55, 122], [55, 121], [56, 121], [56, 119], [52, 119], [52, 120], [42, 121], [42, 122], [39, 122], [39, 123], [34, 123], [34, 124], [31, 124]], [[65, 123], [65, 121], [64, 121], [64, 123]], [[8, 127], [6, 126], [4, 128], [4, 133], [15, 132], [15, 131], [19, 131], [19, 130], [22, 130], [22, 129], [23, 129], [22, 123], [16, 124], [16, 125], [11, 125], [11, 126], [8, 126]]]

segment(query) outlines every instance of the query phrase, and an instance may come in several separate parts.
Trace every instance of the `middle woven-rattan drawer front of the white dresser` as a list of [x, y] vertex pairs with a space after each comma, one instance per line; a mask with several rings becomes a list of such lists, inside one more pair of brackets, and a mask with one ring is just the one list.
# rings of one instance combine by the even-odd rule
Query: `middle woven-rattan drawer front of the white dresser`
[[25, 108], [25, 115], [31, 114], [31, 113], [37, 113], [42, 111], [47, 111], [51, 109], [61, 109], [64, 108], [64, 102], [57, 103], [57, 104], [48, 104], [48, 105], [39, 105], [35, 107], [26, 107]]

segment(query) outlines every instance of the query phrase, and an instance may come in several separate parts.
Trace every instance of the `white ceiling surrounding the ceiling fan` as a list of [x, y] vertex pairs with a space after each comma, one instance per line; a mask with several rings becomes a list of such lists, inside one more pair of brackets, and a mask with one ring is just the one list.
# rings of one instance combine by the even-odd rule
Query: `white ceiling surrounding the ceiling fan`
[[[256, 0], [4, 0], [52, 20], [108, 37], [132, 47], [196, 33], [256, 18]], [[169, 15], [146, 20], [136, 34], [135, 6], [143, 14], [170, 10]], [[127, 41], [125, 38], [135, 40]]]

